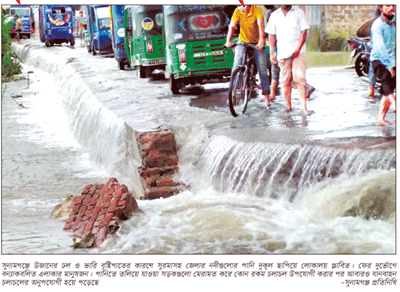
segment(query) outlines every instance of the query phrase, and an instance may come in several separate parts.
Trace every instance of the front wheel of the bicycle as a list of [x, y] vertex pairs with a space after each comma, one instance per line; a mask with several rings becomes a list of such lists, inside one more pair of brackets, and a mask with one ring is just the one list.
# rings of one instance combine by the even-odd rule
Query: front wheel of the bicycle
[[229, 109], [234, 117], [244, 114], [249, 102], [244, 69], [236, 68], [229, 83]]

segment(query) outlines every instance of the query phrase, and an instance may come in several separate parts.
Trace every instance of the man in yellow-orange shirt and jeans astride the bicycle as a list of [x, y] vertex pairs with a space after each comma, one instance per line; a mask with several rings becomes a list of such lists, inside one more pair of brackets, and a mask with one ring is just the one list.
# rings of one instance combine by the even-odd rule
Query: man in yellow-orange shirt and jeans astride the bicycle
[[235, 49], [235, 59], [232, 72], [243, 62], [245, 56], [245, 47], [243, 43], [254, 44], [257, 50], [254, 50], [257, 70], [261, 79], [262, 94], [265, 95], [265, 103], [269, 103], [269, 78], [267, 70], [267, 54], [265, 52], [264, 38], [264, 13], [262, 9], [254, 5], [239, 6], [235, 9], [229, 25], [228, 35], [226, 37], [227, 48], [232, 46], [232, 36], [237, 24], [240, 26], [238, 46]]

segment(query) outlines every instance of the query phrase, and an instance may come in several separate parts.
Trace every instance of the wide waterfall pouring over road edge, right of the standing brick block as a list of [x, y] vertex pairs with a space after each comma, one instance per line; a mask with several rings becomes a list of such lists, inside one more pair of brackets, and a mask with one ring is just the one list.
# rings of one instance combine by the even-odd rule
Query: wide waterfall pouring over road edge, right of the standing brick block
[[201, 159], [211, 184], [223, 192], [287, 197], [325, 179], [395, 167], [395, 150], [338, 149], [304, 144], [210, 139]]

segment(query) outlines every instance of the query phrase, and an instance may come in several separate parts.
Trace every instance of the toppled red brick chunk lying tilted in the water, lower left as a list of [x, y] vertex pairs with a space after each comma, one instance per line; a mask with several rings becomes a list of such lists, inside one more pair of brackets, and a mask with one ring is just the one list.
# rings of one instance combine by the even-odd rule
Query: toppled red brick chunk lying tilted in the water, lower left
[[119, 229], [122, 221], [137, 211], [140, 209], [128, 188], [111, 178], [105, 185], [87, 185], [80, 196], [73, 197], [64, 230], [82, 239], [75, 247], [99, 247]]

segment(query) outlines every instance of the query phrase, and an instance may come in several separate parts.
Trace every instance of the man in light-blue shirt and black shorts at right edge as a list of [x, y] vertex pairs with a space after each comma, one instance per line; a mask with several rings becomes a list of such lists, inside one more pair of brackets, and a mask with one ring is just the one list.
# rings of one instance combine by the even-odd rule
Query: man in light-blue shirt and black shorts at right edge
[[396, 24], [394, 5], [379, 5], [381, 15], [371, 26], [372, 50], [370, 60], [375, 76], [382, 80], [381, 106], [378, 114], [378, 126], [390, 125], [385, 120], [390, 107], [396, 112]]

